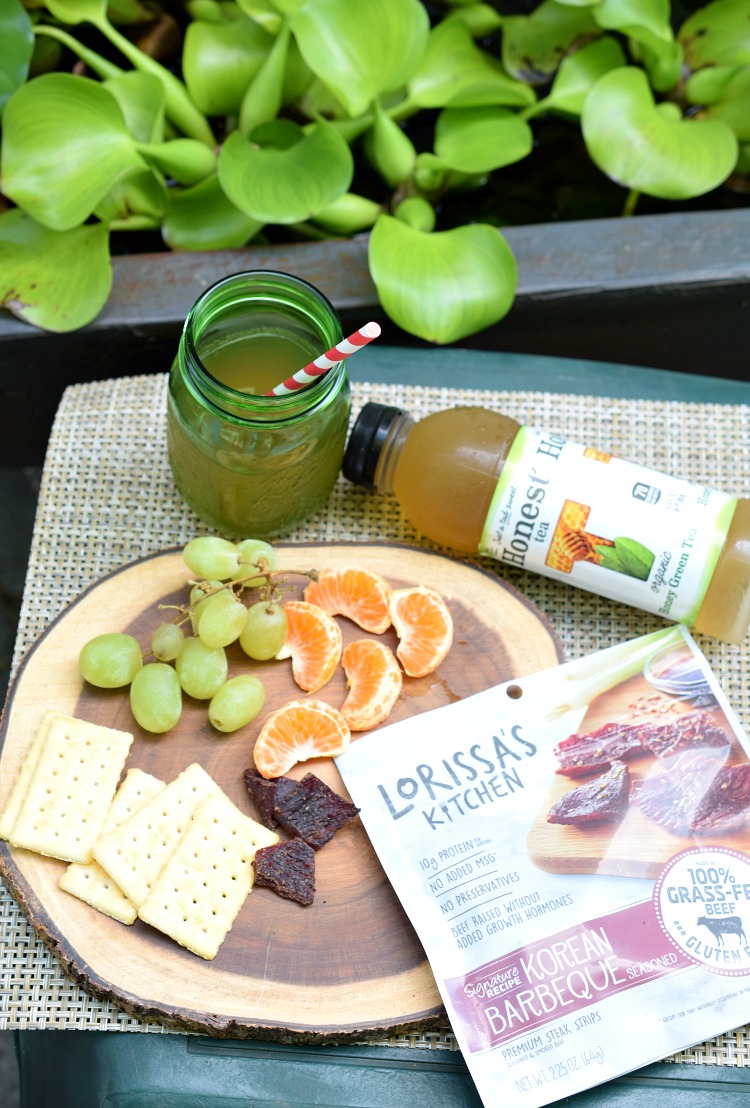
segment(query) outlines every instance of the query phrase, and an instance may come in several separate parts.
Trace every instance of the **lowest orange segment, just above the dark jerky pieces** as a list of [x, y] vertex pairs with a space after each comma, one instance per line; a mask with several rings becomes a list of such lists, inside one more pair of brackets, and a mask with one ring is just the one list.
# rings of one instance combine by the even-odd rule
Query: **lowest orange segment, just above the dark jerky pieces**
[[255, 743], [253, 758], [265, 778], [282, 777], [299, 761], [336, 758], [351, 738], [340, 711], [323, 700], [290, 700], [271, 711]]

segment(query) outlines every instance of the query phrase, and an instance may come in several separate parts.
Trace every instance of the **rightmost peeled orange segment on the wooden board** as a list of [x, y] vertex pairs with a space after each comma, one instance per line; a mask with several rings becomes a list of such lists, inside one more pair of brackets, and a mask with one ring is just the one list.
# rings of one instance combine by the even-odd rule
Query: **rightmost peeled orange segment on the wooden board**
[[453, 619], [445, 601], [432, 588], [395, 588], [390, 612], [399, 645], [395, 654], [410, 677], [436, 669], [453, 642]]

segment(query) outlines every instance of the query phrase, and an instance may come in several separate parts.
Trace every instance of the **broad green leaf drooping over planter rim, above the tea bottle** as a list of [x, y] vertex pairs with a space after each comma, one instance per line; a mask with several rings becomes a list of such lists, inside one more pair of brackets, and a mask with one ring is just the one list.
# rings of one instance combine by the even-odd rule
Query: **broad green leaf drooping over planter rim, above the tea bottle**
[[425, 234], [381, 215], [370, 235], [369, 261], [389, 317], [428, 342], [456, 342], [492, 326], [515, 296], [515, 260], [486, 224]]

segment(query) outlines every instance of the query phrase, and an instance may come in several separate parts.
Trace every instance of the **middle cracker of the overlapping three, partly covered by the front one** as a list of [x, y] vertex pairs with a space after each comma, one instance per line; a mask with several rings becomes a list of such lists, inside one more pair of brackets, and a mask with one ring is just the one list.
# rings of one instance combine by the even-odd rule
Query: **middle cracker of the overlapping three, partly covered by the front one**
[[95, 843], [95, 861], [136, 907], [151, 892], [198, 803], [215, 792], [220, 792], [219, 787], [194, 762]]

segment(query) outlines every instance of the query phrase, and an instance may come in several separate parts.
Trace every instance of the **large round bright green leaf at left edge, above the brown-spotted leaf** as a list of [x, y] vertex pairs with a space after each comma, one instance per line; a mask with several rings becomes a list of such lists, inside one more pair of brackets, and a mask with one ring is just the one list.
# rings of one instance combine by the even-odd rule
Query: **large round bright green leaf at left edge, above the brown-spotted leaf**
[[96, 81], [47, 73], [8, 101], [3, 192], [45, 227], [83, 223], [120, 177], [143, 167], [120, 105]]

